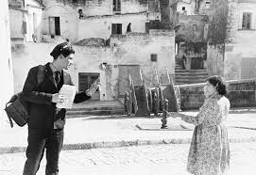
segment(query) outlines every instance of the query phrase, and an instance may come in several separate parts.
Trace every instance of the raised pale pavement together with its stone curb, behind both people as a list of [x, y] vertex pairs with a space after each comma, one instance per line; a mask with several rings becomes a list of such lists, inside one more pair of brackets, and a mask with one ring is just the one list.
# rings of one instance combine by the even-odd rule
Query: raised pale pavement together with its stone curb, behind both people
[[[196, 115], [196, 111], [184, 112]], [[190, 143], [193, 131], [168, 131], [160, 129], [161, 118], [127, 116], [91, 116], [67, 119], [63, 150], [112, 148], [131, 145]], [[193, 126], [180, 119], [168, 119], [169, 125]], [[140, 130], [136, 125], [149, 130]], [[256, 112], [253, 109], [233, 110], [227, 125], [231, 142], [256, 141]], [[5, 123], [0, 128], [0, 153], [26, 151], [27, 127], [14, 128]]]

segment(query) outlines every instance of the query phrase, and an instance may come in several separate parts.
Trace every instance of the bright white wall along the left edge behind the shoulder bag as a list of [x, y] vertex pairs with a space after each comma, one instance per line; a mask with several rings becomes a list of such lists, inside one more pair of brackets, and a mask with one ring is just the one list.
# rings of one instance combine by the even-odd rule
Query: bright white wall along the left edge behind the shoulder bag
[[0, 79], [3, 82], [0, 90], [0, 127], [2, 128], [3, 126], [9, 127], [9, 124], [6, 122], [8, 118], [3, 109], [6, 103], [9, 101], [11, 95], [13, 95], [8, 0], [1, 1], [0, 11], [0, 48], [2, 54], [0, 64]]

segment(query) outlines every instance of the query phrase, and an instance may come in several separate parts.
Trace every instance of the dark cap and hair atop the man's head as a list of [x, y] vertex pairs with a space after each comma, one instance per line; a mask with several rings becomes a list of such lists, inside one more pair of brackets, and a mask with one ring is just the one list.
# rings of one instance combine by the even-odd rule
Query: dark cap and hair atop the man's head
[[57, 59], [58, 56], [62, 55], [64, 57], [69, 56], [71, 54], [75, 54], [75, 51], [70, 44], [70, 42], [62, 42], [55, 46], [50, 56], [53, 56], [54, 59]]

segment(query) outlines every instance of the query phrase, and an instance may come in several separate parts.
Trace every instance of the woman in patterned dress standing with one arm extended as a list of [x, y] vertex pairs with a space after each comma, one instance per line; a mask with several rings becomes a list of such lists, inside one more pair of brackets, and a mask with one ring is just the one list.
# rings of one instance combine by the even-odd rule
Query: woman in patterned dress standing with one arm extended
[[223, 175], [230, 167], [230, 144], [225, 121], [230, 101], [225, 97], [228, 85], [220, 76], [207, 79], [204, 87], [205, 102], [196, 117], [170, 113], [173, 118], [196, 125], [187, 170], [195, 175]]

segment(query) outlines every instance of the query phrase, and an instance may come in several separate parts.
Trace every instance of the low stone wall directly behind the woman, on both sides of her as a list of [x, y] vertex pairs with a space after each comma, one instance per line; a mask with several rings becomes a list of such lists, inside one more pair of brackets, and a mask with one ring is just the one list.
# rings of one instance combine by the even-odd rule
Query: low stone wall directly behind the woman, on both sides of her
[[[256, 79], [232, 80], [230, 84], [231, 107], [256, 106]], [[205, 83], [176, 86], [180, 91], [180, 109], [198, 109], [204, 102], [203, 87]]]

